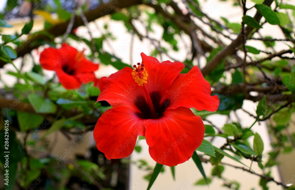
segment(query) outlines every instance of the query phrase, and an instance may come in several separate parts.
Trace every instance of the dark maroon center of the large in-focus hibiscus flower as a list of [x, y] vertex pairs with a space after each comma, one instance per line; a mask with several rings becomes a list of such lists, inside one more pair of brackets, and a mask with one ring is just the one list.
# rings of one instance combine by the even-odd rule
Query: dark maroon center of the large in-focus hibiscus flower
[[170, 99], [165, 100], [162, 104], [161, 94], [160, 92], [151, 92], [150, 98], [153, 102], [153, 106], [155, 108], [156, 116], [151, 112], [151, 108], [149, 104], [145, 101], [145, 97], [143, 95], [137, 96], [134, 100], [134, 104], [140, 110], [141, 113], [137, 112], [136, 115], [141, 119], [158, 119], [164, 116], [164, 111], [170, 105]]

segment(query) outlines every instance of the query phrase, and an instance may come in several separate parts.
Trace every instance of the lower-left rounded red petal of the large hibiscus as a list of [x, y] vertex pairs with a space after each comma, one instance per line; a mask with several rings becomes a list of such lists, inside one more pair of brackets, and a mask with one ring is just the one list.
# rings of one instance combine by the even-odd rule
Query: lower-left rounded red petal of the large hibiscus
[[135, 115], [135, 111], [117, 106], [102, 114], [93, 135], [97, 149], [110, 160], [129, 156], [134, 150], [137, 136], [143, 135], [144, 130], [143, 120]]

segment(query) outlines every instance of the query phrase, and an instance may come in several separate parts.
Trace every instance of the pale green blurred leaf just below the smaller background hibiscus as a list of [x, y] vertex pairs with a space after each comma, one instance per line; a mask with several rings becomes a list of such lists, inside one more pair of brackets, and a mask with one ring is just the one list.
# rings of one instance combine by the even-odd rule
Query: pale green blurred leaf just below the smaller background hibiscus
[[37, 113], [55, 113], [56, 105], [49, 99], [45, 99], [37, 94], [28, 95], [28, 100]]

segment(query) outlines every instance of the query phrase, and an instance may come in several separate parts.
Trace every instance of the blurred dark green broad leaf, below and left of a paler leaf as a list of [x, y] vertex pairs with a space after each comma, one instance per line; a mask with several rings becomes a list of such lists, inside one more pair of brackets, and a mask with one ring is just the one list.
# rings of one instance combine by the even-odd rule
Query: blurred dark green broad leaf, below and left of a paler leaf
[[19, 123], [19, 128], [21, 131], [27, 131], [29, 129], [34, 129], [35, 127], [42, 124], [44, 117], [27, 113], [27, 112], [17, 112], [17, 121]]

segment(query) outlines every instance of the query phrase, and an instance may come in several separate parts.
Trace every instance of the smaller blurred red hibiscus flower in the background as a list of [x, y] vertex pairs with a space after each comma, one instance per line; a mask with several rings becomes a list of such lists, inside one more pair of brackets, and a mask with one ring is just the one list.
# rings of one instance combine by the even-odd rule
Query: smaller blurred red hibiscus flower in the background
[[40, 55], [40, 64], [44, 69], [55, 71], [66, 89], [77, 89], [82, 83], [97, 83], [98, 80], [94, 71], [99, 65], [88, 61], [83, 52], [66, 43], [59, 49], [46, 48]]

